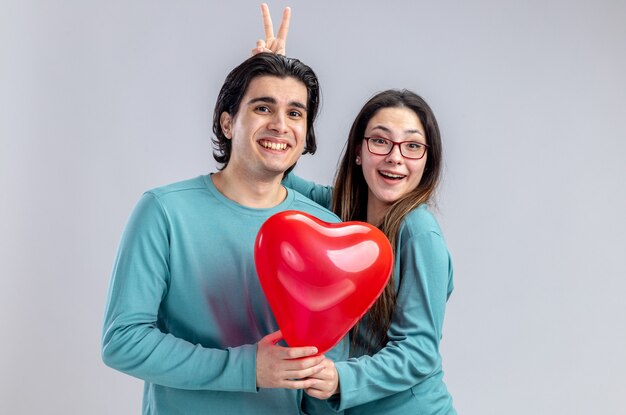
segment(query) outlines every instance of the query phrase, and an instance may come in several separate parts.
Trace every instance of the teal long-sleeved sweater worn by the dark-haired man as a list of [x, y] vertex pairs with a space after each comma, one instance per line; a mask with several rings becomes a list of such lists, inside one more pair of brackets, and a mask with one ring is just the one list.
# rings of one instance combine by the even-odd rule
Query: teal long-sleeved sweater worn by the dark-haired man
[[[269, 216], [289, 209], [338, 222], [293, 191], [270, 209], [244, 207], [209, 175], [142, 196], [113, 268], [102, 357], [145, 381], [144, 414], [330, 412], [302, 391], [256, 387], [256, 343], [278, 326], [256, 274], [254, 241]], [[342, 349], [327, 357], [347, 358]]]

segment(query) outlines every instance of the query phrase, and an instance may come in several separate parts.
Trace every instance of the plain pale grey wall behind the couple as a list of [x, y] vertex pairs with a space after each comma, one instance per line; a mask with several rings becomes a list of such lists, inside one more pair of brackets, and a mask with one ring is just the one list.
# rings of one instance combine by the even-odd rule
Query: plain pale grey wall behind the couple
[[[377, 91], [438, 116], [459, 413], [625, 413], [626, 2], [287, 4], [323, 92], [299, 174], [331, 182]], [[100, 360], [117, 242], [144, 190], [215, 170], [217, 91], [262, 35], [257, 1], [0, 2], [2, 413], [140, 412]]]

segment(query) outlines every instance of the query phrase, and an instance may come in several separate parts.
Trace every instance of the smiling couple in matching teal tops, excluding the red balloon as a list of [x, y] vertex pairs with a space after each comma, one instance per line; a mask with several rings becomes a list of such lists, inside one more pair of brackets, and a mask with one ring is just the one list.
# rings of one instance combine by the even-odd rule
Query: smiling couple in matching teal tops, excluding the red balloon
[[[103, 360], [145, 381], [144, 414], [454, 414], [439, 353], [452, 266], [427, 208], [442, 164], [434, 114], [410, 91], [380, 92], [354, 121], [333, 187], [294, 176], [316, 150], [319, 84], [284, 56], [290, 10], [276, 37], [262, 12], [266, 39], [217, 98], [218, 171], [146, 192], [126, 225]], [[254, 238], [284, 210], [367, 221], [394, 248], [385, 291], [326, 355], [278, 344], [258, 282]]]

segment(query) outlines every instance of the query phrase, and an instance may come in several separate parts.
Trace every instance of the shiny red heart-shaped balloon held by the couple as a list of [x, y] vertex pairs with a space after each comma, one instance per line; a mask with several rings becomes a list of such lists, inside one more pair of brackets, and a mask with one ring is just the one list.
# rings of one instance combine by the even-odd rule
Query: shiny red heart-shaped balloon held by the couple
[[385, 234], [368, 223], [331, 224], [289, 210], [261, 226], [254, 261], [287, 344], [325, 353], [374, 304], [393, 253]]

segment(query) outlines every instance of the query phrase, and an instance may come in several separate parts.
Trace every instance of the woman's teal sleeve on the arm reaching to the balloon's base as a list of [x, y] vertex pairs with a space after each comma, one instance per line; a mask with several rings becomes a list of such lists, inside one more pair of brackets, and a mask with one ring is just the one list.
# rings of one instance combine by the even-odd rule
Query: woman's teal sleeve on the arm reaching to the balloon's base
[[[401, 237], [396, 254], [398, 297], [389, 341], [372, 356], [337, 363], [341, 383], [338, 409], [419, 388], [441, 374], [439, 341], [452, 291], [448, 250], [439, 233], [420, 231]], [[415, 395], [419, 393], [415, 391]]]

